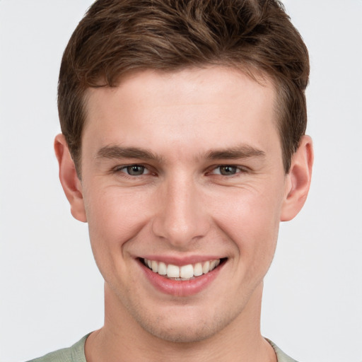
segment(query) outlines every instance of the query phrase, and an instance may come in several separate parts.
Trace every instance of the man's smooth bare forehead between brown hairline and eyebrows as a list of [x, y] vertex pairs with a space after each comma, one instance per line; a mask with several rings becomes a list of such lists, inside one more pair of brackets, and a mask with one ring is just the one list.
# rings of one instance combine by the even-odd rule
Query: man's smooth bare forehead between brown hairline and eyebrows
[[115, 88], [87, 91], [83, 138], [106, 144], [204, 146], [250, 143], [276, 134], [276, 92], [225, 66], [174, 72], [144, 70], [124, 76]]

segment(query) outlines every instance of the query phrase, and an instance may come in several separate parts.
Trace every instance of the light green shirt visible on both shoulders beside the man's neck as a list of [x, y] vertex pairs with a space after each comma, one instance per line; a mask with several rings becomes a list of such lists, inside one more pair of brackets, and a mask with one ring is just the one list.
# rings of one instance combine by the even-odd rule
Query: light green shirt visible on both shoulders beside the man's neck
[[[59, 351], [46, 354], [43, 357], [35, 358], [28, 362], [87, 362], [84, 354], [84, 344], [89, 334], [84, 336], [80, 341], [69, 348], [59, 349]], [[293, 358], [284, 354], [272, 341], [267, 339], [269, 344], [274, 348], [278, 362], [297, 362]]]

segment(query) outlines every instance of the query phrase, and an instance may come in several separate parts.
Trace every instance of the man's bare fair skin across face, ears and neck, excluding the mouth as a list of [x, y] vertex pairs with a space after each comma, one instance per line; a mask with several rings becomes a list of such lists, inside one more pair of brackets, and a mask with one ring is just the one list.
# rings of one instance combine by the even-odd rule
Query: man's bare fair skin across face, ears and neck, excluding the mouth
[[[303, 136], [284, 173], [271, 81], [222, 66], [146, 70], [87, 98], [82, 180], [55, 140], [105, 279], [105, 325], [88, 337], [87, 361], [276, 361], [260, 334], [262, 283], [279, 222], [307, 197], [313, 149]], [[138, 258], [149, 255], [226, 262], [202, 291], [177, 296], [145, 277]]]

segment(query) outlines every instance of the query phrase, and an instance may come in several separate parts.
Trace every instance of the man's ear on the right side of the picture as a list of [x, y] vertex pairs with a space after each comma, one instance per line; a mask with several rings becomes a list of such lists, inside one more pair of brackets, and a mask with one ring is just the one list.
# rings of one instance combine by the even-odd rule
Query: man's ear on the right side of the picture
[[281, 207], [281, 221], [289, 221], [302, 209], [308, 196], [313, 168], [313, 142], [303, 136], [291, 158], [291, 169], [286, 175], [286, 192]]

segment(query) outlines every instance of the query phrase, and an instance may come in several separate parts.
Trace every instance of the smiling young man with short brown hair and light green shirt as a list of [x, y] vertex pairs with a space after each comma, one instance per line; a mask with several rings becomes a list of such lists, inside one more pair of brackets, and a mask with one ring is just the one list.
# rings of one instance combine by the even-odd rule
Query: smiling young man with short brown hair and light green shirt
[[105, 325], [35, 361], [293, 361], [260, 333], [279, 222], [302, 208], [308, 52], [278, 1], [98, 0], [55, 139], [105, 279]]

